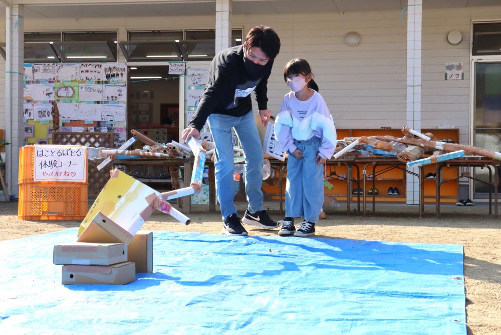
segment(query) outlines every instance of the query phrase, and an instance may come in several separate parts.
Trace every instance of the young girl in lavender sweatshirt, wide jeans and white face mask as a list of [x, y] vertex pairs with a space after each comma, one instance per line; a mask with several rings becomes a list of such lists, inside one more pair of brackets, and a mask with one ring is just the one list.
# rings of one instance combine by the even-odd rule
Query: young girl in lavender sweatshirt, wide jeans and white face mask
[[[279, 235], [312, 236], [324, 202], [324, 166], [336, 148], [336, 127], [313, 81], [310, 65], [293, 59], [284, 68], [291, 88], [275, 122], [275, 136], [289, 152], [286, 217]], [[295, 217], [305, 220], [294, 226]]]

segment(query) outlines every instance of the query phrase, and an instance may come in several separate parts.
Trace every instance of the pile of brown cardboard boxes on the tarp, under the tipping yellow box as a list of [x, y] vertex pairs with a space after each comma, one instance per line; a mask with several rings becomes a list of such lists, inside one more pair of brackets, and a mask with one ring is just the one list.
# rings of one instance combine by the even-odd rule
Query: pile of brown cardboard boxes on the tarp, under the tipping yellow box
[[153, 233], [135, 236], [98, 213], [76, 242], [54, 246], [62, 283], [123, 285], [139, 272], [153, 272]]

